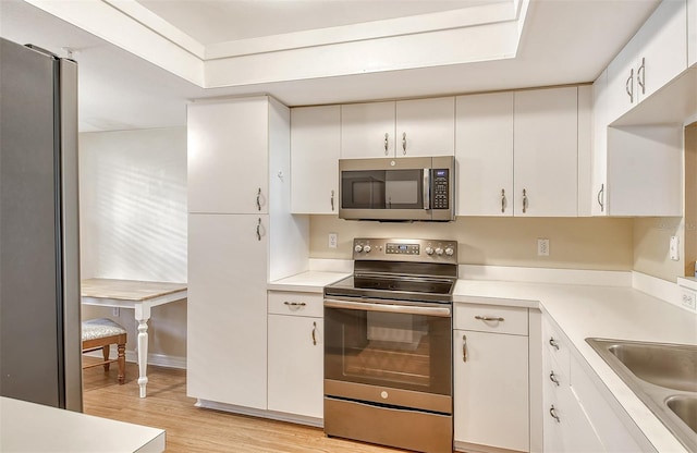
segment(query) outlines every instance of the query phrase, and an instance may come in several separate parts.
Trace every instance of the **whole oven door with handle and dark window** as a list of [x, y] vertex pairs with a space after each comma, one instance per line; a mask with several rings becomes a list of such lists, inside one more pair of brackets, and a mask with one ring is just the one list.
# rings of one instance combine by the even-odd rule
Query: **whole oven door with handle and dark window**
[[451, 413], [452, 307], [325, 299], [325, 393]]

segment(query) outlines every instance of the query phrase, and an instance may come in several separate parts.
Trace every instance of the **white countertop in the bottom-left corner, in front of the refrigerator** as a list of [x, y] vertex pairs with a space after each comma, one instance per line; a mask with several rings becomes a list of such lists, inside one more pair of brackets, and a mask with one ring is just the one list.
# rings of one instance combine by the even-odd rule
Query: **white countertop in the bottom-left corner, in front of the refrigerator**
[[155, 453], [164, 451], [164, 431], [2, 396], [0, 451]]

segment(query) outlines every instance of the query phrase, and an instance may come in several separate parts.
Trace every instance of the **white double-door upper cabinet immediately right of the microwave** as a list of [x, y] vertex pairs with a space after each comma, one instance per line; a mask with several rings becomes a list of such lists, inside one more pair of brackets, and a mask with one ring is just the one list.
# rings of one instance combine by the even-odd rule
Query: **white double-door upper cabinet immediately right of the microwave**
[[458, 96], [456, 107], [458, 216], [579, 215], [589, 87]]

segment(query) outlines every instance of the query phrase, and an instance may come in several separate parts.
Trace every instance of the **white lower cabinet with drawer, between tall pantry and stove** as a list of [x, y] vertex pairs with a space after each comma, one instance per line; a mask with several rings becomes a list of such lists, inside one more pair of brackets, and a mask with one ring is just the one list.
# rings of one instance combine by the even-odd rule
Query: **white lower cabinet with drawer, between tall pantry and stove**
[[268, 409], [322, 418], [322, 295], [270, 291]]

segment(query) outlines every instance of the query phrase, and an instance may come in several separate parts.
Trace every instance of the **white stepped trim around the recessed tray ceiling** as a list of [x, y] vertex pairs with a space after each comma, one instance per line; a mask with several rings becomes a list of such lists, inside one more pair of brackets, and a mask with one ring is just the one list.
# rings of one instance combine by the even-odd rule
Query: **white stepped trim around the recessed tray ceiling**
[[135, 0], [26, 0], [203, 88], [515, 58], [528, 0], [204, 46]]

